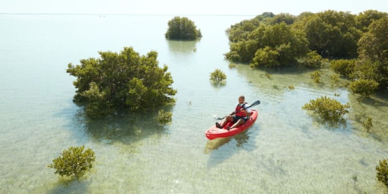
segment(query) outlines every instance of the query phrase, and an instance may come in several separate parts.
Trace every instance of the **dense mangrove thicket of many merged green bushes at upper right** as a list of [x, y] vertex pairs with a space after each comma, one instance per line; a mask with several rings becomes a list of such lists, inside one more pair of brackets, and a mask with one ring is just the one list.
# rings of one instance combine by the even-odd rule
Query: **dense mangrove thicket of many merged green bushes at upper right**
[[324, 60], [354, 81], [349, 89], [363, 96], [388, 86], [388, 14], [368, 10], [304, 12], [299, 16], [263, 13], [226, 30], [226, 59], [252, 67], [304, 65], [319, 68]]

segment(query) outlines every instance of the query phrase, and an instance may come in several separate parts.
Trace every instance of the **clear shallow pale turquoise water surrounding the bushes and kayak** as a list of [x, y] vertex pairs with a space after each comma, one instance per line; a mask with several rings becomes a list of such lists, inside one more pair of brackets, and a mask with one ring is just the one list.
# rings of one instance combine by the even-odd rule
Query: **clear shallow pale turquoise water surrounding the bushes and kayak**
[[[253, 16], [188, 16], [201, 29], [199, 41], [165, 40], [172, 17], [0, 15], [0, 193], [387, 192], [375, 178], [388, 154], [384, 136], [375, 135], [388, 126], [386, 99], [358, 102], [327, 79], [313, 83], [309, 71], [228, 68], [225, 30]], [[91, 121], [72, 102], [67, 64], [128, 46], [140, 54], [156, 50], [160, 65], [168, 65], [178, 90], [177, 103], [166, 107], [171, 125], [158, 125], [155, 113]], [[224, 86], [210, 83], [215, 68], [226, 73]], [[206, 129], [240, 95], [261, 101], [256, 123], [234, 137], [207, 140]], [[351, 103], [346, 125], [329, 127], [301, 109], [321, 96]], [[374, 134], [353, 119], [363, 111], [377, 124]], [[62, 150], [81, 145], [97, 156], [81, 180], [47, 167]]]

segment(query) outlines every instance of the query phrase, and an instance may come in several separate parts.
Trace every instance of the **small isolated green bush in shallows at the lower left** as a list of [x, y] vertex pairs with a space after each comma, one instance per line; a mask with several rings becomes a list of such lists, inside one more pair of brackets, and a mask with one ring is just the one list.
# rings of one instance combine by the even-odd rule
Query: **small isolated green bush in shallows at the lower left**
[[54, 168], [56, 174], [60, 176], [71, 176], [80, 178], [86, 171], [93, 167], [93, 162], [96, 160], [95, 153], [92, 149], [85, 146], [70, 147], [64, 150], [60, 157], [55, 158], [49, 168]]

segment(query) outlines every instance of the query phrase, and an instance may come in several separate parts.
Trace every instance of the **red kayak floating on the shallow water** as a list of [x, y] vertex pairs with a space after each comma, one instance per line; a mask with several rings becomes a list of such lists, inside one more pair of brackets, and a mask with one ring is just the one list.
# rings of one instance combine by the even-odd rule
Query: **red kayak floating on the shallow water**
[[215, 138], [220, 138], [220, 137], [230, 137], [230, 136], [236, 135], [237, 133], [245, 129], [248, 129], [253, 123], [255, 123], [256, 119], [258, 118], [258, 111], [256, 110], [251, 110], [251, 111], [253, 113], [251, 117], [247, 121], [245, 121], [245, 123], [238, 126], [237, 128], [232, 128], [227, 130], [226, 126], [230, 127], [233, 125], [233, 123], [230, 121], [226, 123], [223, 129], [219, 129], [214, 125], [205, 132], [206, 137], [210, 140]]

